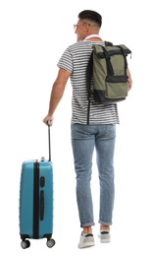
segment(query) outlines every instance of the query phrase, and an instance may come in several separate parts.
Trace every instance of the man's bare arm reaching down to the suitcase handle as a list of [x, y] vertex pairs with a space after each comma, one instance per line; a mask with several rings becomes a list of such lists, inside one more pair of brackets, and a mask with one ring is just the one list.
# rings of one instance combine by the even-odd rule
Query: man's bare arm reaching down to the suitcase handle
[[43, 122], [45, 124], [47, 124], [48, 120], [50, 120], [52, 124], [54, 112], [62, 96], [64, 95], [65, 87], [70, 76], [71, 72], [62, 68], [59, 69], [58, 76], [53, 84], [53, 88], [50, 95], [48, 114], [43, 119]]

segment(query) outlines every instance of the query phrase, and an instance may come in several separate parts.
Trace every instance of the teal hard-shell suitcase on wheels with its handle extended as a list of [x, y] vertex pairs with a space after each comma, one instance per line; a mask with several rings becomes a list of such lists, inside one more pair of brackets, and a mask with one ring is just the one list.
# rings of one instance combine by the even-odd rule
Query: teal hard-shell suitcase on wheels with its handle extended
[[25, 160], [22, 164], [20, 184], [20, 235], [23, 249], [30, 246], [29, 239], [46, 238], [53, 247], [53, 165], [49, 160]]

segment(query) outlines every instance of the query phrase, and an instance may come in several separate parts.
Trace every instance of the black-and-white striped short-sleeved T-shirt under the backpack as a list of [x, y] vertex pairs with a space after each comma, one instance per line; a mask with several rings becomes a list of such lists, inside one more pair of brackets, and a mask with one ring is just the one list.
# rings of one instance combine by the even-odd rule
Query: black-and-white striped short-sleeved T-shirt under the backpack
[[[58, 62], [58, 67], [71, 72], [72, 97], [72, 124], [87, 124], [87, 90], [86, 67], [92, 51], [92, 44], [104, 42], [77, 41], [70, 45]], [[89, 124], [117, 124], [119, 121], [118, 105], [116, 103], [90, 104]]]

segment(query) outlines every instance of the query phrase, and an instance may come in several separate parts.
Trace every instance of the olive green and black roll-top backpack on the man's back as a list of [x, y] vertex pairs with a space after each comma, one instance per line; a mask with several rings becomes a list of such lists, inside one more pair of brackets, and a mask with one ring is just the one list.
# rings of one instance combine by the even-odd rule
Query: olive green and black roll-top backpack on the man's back
[[88, 101], [93, 104], [111, 104], [127, 96], [127, 54], [126, 45], [92, 45], [92, 53], [86, 70]]

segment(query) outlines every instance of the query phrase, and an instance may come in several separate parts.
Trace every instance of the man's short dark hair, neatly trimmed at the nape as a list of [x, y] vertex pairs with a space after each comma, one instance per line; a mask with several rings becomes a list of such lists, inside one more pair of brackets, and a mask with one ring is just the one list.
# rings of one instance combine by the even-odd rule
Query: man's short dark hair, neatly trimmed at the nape
[[102, 16], [95, 11], [84, 10], [78, 14], [80, 20], [90, 20], [98, 25], [99, 28], [102, 26]]

